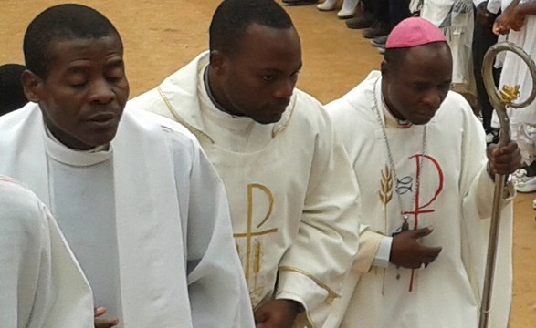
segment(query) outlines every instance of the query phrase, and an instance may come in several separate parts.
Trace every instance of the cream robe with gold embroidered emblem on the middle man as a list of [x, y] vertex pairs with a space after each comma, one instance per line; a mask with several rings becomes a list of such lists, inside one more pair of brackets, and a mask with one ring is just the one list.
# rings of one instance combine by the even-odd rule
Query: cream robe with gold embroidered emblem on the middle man
[[358, 190], [342, 143], [298, 89], [274, 124], [219, 111], [206, 95], [207, 64], [204, 53], [130, 106], [178, 120], [199, 139], [226, 186], [253, 306], [292, 299], [321, 327], [357, 249]]

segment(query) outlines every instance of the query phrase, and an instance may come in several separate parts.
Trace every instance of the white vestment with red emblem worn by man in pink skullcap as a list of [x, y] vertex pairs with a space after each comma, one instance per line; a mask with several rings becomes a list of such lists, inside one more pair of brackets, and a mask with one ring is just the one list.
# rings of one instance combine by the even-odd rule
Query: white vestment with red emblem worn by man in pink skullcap
[[[386, 124], [400, 183], [396, 183], [387, 157], [373, 109], [374, 97], [382, 124]], [[374, 71], [347, 95], [326, 106], [361, 190], [362, 222], [368, 230], [360, 236], [358, 260], [372, 263], [374, 247], [364, 243], [375, 245], [378, 236], [390, 236], [400, 229], [403, 219], [397, 192], [403, 210], [419, 212], [409, 215], [410, 229], [432, 226], [434, 231], [422, 243], [443, 250], [427, 268], [416, 270], [393, 264], [386, 269], [354, 266], [342, 300], [336, 304], [338, 310], [331, 313], [326, 327], [339, 327], [345, 313], [341, 327], [348, 328], [476, 328], [488, 247], [489, 220], [484, 218], [490, 216], [494, 190], [486, 170], [482, 125], [464, 98], [449, 92], [427, 124], [426, 157], [422, 158], [424, 126], [400, 128], [390, 124], [395, 120], [392, 116], [385, 119], [383, 104], [380, 72]], [[417, 170], [421, 182], [415, 190]], [[489, 324], [494, 328], [506, 328], [509, 320], [511, 220], [509, 204], [502, 210], [500, 222]]]

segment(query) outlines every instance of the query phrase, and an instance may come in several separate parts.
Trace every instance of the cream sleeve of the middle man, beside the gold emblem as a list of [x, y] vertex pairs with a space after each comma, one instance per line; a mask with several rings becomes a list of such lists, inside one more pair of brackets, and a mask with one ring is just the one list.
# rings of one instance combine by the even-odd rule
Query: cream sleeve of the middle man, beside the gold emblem
[[[277, 299], [300, 302], [321, 327], [358, 249], [359, 190], [342, 141], [325, 115], [310, 169], [300, 231], [279, 263]], [[314, 241], [314, 242], [311, 242]], [[336, 256], [333, 256], [336, 254]]]

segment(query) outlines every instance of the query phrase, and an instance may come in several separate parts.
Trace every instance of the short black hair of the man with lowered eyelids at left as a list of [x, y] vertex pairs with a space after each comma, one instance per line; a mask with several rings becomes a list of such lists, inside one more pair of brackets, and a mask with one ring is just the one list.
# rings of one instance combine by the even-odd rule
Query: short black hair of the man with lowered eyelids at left
[[47, 78], [52, 41], [121, 36], [110, 20], [85, 5], [64, 4], [47, 8], [30, 23], [24, 37], [26, 68], [38, 77]]

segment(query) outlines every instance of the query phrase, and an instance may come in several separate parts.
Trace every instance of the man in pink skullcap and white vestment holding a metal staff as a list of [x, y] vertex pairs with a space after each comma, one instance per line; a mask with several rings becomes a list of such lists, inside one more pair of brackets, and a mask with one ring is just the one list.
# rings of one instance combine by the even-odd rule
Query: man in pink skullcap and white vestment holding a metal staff
[[[510, 142], [487, 151], [468, 102], [449, 91], [451, 78], [445, 36], [408, 18], [387, 39], [382, 71], [326, 106], [353, 163], [364, 224], [326, 327], [478, 327], [492, 177], [517, 169], [520, 150]], [[511, 302], [510, 185], [505, 195], [495, 328], [507, 327]]]

